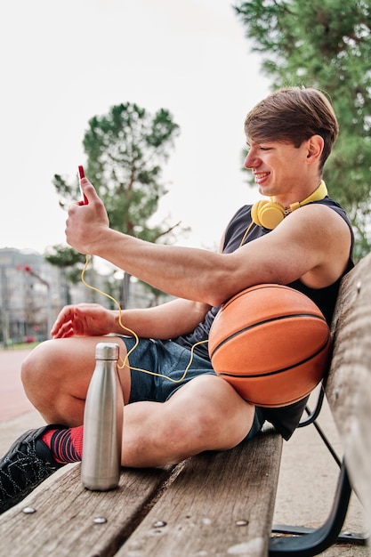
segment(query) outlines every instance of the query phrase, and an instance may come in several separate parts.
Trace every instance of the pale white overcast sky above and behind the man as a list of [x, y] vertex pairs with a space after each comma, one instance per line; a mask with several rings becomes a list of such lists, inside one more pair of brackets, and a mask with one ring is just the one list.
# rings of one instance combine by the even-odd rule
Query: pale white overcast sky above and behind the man
[[230, 0], [18, 0], [0, 7], [0, 248], [65, 244], [52, 185], [85, 164], [88, 121], [121, 102], [168, 109], [181, 134], [158, 220], [214, 248], [257, 191], [242, 172], [243, 122], [270, 92]]

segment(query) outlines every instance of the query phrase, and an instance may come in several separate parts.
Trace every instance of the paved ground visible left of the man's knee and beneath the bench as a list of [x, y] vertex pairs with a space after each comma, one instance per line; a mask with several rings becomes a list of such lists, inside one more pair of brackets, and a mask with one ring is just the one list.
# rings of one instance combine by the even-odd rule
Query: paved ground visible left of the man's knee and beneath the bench
[[[20, 362], [27, 357], [28, 352], [14, 349], [0, 351], [0, 455], [21, 432], [44, 424], [28, 402], [20, 382]], [[319, 424], [341, 456], [340, 441], [326, 405]], [[284, 445], [274, 522], [320, 526], [326, 521], [331, 509], [337, 473], [333, 457], [313, 426], [297, 430]], [[365, 517], [356, 496], [352, 496], [344, 529], [355, 532], [366, 530]], [[371, 549], [358, 545], [335, 545], [321, 555], [366, 557], [371, 555]]]

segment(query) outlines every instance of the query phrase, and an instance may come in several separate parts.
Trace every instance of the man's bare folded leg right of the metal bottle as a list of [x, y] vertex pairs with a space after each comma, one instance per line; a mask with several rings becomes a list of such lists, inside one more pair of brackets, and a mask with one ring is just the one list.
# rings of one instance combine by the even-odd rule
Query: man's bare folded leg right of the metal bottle
[[125, 407], [122, 464], [175, 464], [204, 450], [224, 450], [245, 439], [254, 406], [216, 375], [200, 375], [166, 402]]

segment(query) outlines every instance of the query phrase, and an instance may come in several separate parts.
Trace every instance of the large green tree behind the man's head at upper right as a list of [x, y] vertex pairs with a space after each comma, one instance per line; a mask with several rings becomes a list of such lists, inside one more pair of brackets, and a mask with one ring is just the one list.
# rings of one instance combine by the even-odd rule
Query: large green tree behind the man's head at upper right
[[250, 0], [235, 6], [272, 88], [314, 86], [327, 93], [341, 133], [325, 179], [347, 209], [356, 255], [370, 250], [371, 6], [368, 0]]

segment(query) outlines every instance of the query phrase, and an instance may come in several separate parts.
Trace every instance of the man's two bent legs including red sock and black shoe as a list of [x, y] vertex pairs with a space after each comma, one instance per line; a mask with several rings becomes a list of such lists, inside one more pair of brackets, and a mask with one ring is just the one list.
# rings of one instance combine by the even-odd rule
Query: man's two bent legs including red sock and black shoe
[[[85, 396], [93, 373], [95, 344], [100, 341], [98, 337], [51, 341], [39, 345], [25, 361], [22, 379], [29, 399], [46, 422], [63, 425], [55, 426], [55, 433], [53, 425], [27, 432], [1, 460], [0, 513], [59, 467], [52, 441], [82, 441]], [[128, 370], [120, 375], [127, 400]], [[166, 402], [133, 402], [125, 407], [122, 464], [173, 464], [203, 450], [232, 448], [246, 437], [253, 420], [254, 407], [229, 383], [216, 375], [200, 375]], [[77, 445], [80, 453], [68, 451], [68, 455], [77, 452], [73, 460], [81, 458], [82, 442]], [[58, 449], [57, 455], [64, 452], [64, 448]]]

